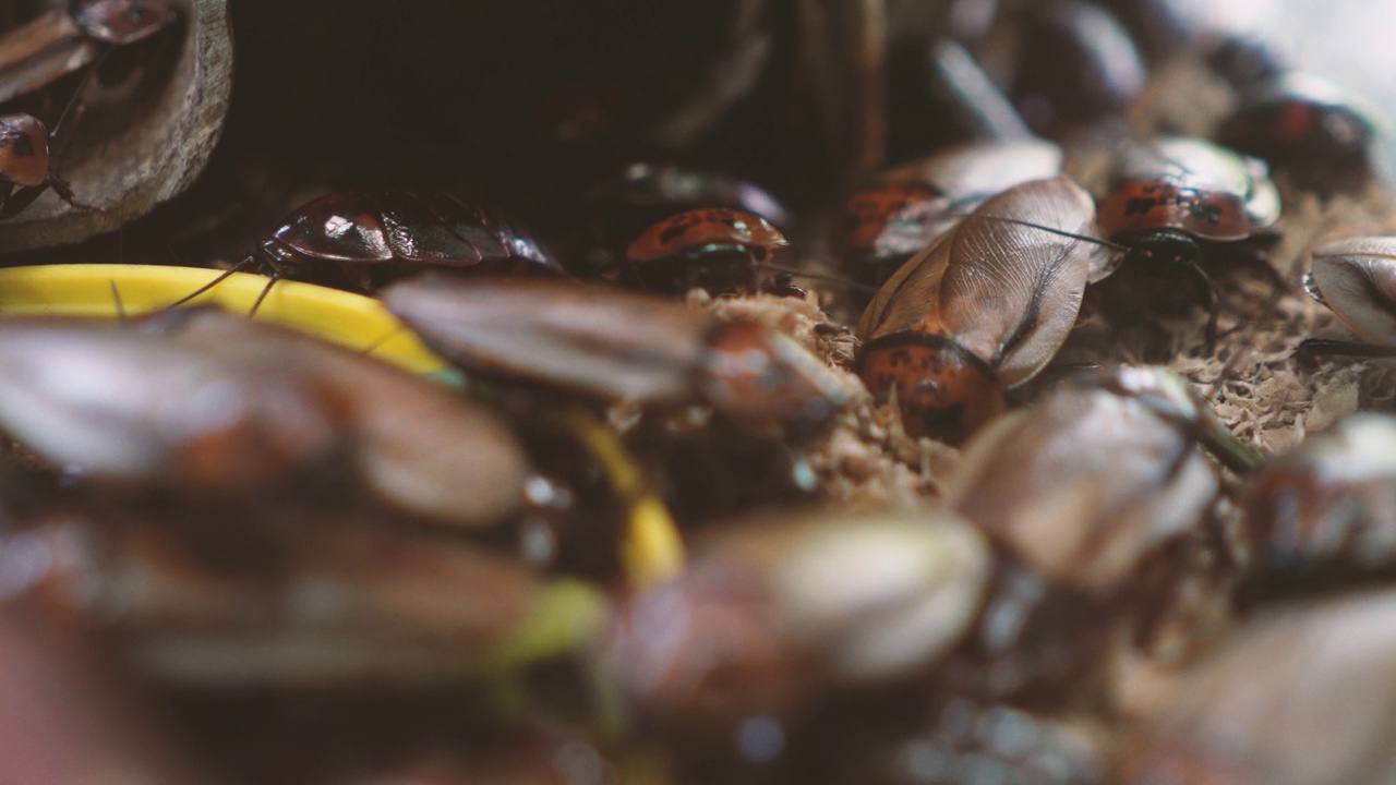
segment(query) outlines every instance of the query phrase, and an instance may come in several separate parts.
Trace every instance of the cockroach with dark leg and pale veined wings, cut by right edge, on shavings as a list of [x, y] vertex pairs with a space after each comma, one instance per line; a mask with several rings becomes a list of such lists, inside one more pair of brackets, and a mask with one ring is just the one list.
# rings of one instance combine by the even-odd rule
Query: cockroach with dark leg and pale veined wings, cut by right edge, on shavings
[[1362, 341], [1309, 338], [1308, 355], [1396, 356], [1396, 237], [1339, 237], [1318, 244], [1304, 289]]

